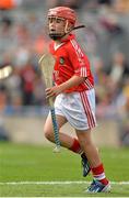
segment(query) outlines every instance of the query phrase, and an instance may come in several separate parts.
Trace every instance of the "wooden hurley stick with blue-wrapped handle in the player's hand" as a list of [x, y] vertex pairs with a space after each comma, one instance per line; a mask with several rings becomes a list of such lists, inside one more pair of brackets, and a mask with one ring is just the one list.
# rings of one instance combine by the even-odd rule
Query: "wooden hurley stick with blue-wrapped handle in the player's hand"
[[[52, 69], [55, 65], [55, 58], [51, 54], [44, 54], [38, 62], [43, 75], [43, 80], [46, 84], [46, 87], [52, 87]], [[55, 135], [55, 143], [56, 147], [54, 148], [54, 152], [60, 152], [60, 141], [59, 141], [59, 130], [58, 124], [56, 121], [56, 114], [55, 114], [55, 107], [54, 107], [54, 99], [50, 97], [48, 99], [48, 103], [50, 107], [50, 113], [51, 113], [51, 120], [52, 120], [52, 128], [54, 128], [54, 135]]]

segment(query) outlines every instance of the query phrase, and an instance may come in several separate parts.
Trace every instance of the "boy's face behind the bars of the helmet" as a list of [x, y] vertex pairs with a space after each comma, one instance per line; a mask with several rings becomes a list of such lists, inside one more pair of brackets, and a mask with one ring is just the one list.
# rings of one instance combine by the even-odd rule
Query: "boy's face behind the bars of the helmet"
[[59, 18], [49, 18], [48, 28], [50, 34], [64, 34], [66, 20]]

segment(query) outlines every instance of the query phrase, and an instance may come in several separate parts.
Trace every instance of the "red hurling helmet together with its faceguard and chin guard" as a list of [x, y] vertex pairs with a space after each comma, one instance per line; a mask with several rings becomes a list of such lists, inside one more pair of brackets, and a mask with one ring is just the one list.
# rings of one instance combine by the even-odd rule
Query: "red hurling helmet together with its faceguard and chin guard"
[[[56, 7], [54, 9], [49, 9], [48, 11], [48, 19], [60, 19], [66, 21], [66, 26], [64, 26], [64, 31], [63, 33], [56, 33], [56, 32], [50, 32], [49, 36], [52, 40], [60, 40], [61, 37], [63, 37], [66, 34], [68, 34], [72, 28], [74, 28], [75, 21], [77, 21], [77, 15], [75, 12], [67, 7]], [[69, 29], [69, 25], [72, 26], [71, 29]]]

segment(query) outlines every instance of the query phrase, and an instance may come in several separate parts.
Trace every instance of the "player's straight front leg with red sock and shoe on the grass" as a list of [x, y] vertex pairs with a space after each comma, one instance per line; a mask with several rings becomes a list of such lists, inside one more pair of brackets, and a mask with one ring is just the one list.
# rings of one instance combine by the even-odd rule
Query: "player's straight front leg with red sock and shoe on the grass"
[[94, 178], [87, 191], [89, 193], [109, 191], [110, 184], [105, 176], [105, 170], [98, 154], [98, 150], [96, 148], [91, 138], [91, 130], [86, 130], [86, 131], [75, 130], [75, 132], [80, 141], [80, 145], [83, 148], [90, 162], [91, 170]]

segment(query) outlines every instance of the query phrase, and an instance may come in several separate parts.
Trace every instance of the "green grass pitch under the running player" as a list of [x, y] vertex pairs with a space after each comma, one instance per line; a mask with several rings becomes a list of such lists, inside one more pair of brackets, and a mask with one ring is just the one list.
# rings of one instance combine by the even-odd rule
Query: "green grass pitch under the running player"
[[92, 177], [82, 177], [79, 155], [64, 148], [55, 154], [50, 146], [1, 142], [0, 197], [129, 197], [129, 148], [102, 147], [99, 152], [112, 191], [90, 195], [85, 189]]

